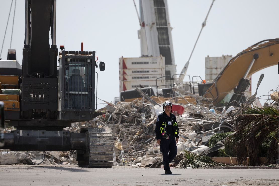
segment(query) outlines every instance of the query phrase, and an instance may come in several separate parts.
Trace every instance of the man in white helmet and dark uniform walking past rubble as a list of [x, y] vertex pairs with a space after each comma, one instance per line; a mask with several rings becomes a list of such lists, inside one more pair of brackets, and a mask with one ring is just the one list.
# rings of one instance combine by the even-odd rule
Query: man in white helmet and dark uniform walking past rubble
[[163, 111], [157, 117], [156, 122], [156, 140], [160, 144], [160, 151], [163, 153], [163, 166], [165, 174], [172, 174], [169, 163], [175, 158], [177, 154], [178, 142], [178, 125], [174, 114], [170, 113], [172, 110], [171, 102], [163, 103]]

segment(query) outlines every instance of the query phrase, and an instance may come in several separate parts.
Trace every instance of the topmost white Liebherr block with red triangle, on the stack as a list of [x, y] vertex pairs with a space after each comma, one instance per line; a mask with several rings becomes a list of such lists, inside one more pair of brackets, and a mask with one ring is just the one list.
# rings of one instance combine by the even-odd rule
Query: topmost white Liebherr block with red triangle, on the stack
[[165, 57], [121, 57], [119, 69], [165, 69]]

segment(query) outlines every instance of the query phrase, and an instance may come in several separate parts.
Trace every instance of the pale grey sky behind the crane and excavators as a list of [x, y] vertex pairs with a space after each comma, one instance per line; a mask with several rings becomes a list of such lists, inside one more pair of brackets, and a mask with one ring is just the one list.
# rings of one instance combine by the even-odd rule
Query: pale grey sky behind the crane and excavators
[[[1, 0], [0, 44], [2, 45], [11, 0]], [[180, 73], [186, 63], [211, 0], [169, 0], [175, 63]], [[139, 4], [136, 0], [137, 6]], [[205, 77], [205, 57], [236, 55], [247, 47], [266, 39], [279, 37], [279, 1], [216, 0], [206, 26], [191, 57], [187, 74]], [[138, 7], [139, 8], [139, 7]], [[2, 59], [7, 59], [11, 39], [13, 9], [3, 46]], [[16, 4], [12, 49], [22, 62], [25, 32], [25, 1]], [[56, 45], [66, 50], [95, 50], [98, 61], [106, 69], [98, 71], [98, 97], [112, 101], [119, 96], [119, 57], [140, 57], [139, 21], [133, 0], [57, 0]], [[260, 74], [265, 74], [257, 96], [268, 94], [279, 85], [278, 66], [268, 67], [252, 75], [252, 94]], [[264, 100], [261, 101], [262, 103]], [[102, 101], [98, 100], [98, 103]], [[101, 108], [102, 104], [98, 108]]]

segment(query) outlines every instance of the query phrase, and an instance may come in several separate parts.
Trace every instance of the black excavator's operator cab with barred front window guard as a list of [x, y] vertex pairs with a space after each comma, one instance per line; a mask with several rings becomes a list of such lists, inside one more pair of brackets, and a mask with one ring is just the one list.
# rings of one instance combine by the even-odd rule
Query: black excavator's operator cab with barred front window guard
[[58, 120], [93, 119], [95, 52], [59, 53]]

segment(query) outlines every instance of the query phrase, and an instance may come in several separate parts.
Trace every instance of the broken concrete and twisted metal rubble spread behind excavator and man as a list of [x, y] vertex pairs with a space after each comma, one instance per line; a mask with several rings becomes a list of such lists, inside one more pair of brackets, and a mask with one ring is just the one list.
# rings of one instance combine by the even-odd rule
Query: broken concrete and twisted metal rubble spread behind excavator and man
[[[278, 93], [271, 95], [273, 100], [278, 100]], [[199, 100], [203, 97], [199, 96]], [[148, 97], [145, 98], [149, 99]], [[252, 101], [249, 100], [251, 105]], [[87, 127], [111, 127], [114, 135], [114, 165], [132, 166], [133, 168], [150, 167], [160, 168], [162, 165], [162, 153], [159, 144], [156, 143], [155, 123], [157, 115], [163, 112], [162, 103], [143, 102], [135, 99], [132, 102], [108, 103], [98, 110], [103, 112], [93, 120], [72, 123], [72, 127], [66, 130], [79, 132]], [[250, 103], [251, 102], [251, 103]], [[180, 111], [173, 110], [179, 125], [179, 142], [177, 143], [177, 156], [171, 166], [177, 166], [183, 160], [185, 151], [202, 154], [208, 149], [208, 141], [215, 133], [231, 132], [234, 127], [230, 123], [231, 118], [240, 113], [242, 107], [212, 107], [198, 103], [175, 103]], [[278, 102], [277, 102], [278, 104]], [[250, 107], [246, 105], [246, 107]], [[183, 107], [183, 109], [181, 109]], [[182, 110], [182, 111], [181, 111]], [[13, 127], [4, 129], [5, 132], [14, 130]], [[11, 152], [13, 163], [23, 163], [18, 156], [23, 152]], [[30, 152], [24, 152], [30, 154]], [[34, 152], [38, 153], [38, 152]], [[40, 152], [45, 154], [43, 164], [76, 164], [75, 151], [65, 152]], [[8, 154], [8, 153], [7, 153]], [[4, 162], [0, 154], [0, 163]], [[12, 155], [9, 155], [12, 156]], [[28, 157], [28, 156], [24, 156]], [[26, 158], [25, 158], [26, 159]], [[7, 160], [8, 161], [8, 160]]]

